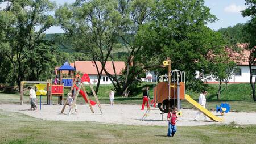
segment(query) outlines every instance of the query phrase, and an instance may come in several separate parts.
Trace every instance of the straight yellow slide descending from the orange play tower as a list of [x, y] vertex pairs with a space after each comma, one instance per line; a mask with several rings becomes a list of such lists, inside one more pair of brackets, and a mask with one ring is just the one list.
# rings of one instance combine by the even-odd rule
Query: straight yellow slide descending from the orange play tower
[[220, 117], [217, 117], [213, 115], [210, 111], [208, 111], [206, 108], [202, 107], [199, 103], [197, 103], [195, 100], [193, 100], [189, 95], [185, 95], [185, 99], [188, 101], [188, 103], [195, 106], [199, 111], [204, 113], [205, 116], [209, 117], [213, 121], [221, 122], [223, 119]]

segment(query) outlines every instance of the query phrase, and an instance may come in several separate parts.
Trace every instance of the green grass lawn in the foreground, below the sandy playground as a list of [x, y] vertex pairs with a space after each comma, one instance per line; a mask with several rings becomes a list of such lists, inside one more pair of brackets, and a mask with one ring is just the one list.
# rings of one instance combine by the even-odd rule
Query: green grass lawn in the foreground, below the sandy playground
[[45, 121], [0, 111], [0, 143], [255, 143], [256, 125], [167, 126], [106, 125]]

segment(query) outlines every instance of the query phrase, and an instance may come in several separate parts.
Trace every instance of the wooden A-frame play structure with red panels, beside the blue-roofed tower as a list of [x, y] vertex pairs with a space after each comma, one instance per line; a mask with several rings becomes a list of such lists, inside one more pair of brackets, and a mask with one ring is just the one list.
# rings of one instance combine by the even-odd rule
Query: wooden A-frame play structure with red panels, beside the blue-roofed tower
[[[85, 90], [84, 82], [88, 82], [89, 83], [90, 90], [92, 91], [93, 96], [94, 96], [96, 102], [94, 102], [94, 101], [89, 99], [89, 96], [88, 96], [88, 94], [87, 94], [87, 92]], [[95, 91], [93, 89], [93, 86], [90, 83], [89, 75], [88, 74], [84, 74], [84, 75], [82, 75], [82, 78], [80, 78], [80, 75], [76, 75], [76, 77], [75, 77], [75, 79], [73, 80], [72, 83], [73, 84], [71, 86], [71, 89], [69, 90], [69, 93], [73, 94], [73, 102], [72, 102], [71, 108], [69, 109], [69, 114], [68, 115], [71, 115], [73, 109], [75, 108], [76, 100], [77, 100], [77, 97], [79, 96], [79, 94], [82, 95], [82, 98], [84, 98], [86, 103], [89, 104], [90, 111], [92, 113], [94, 113], [92, 105], [96, 105], [96, 103], [97, 103], [98, 108], [100, 109], [100, 112], [102, 114], [100, 101], [98, 100], [98, 97], [97, 97], [97, 95], [96, 95], [96, 93], [95, 93]], [[67, 105], [68, 105], [68, 99], [65, 101], [65, 104], [64, 104], [63, 108], [61, 109], [60, 113], [64, 112], [65, 107]]]

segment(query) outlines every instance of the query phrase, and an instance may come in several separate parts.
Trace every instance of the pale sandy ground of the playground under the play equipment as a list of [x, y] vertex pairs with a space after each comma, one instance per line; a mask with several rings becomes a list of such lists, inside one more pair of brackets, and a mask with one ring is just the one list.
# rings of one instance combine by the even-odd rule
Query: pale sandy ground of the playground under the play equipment
[[[100, 114], [98, 106], [93, 106], [94, 113], [90, 112], [89, 105], [79, 105], [78, 113], [73, 113], [68, 116], [69, 107], [64, 111], [64, 114], [60, 114], [62, 105], [42, 105], [42, 110], [30, 111], [29, 104], [4, 104], [0, 105], [0, 109], [3, 111], [19, 112], [35, 118], [52, 121], [93, 121], [106, 124], [126, 124], [126, 125], [167, 125], [167, 114], [164, 113], [163, 121], [162, 115], [158, 108], [153, 108], [145, 121], [141, 121], [145, 111], [141, 111], [141, 105], [114, 105], [102, 104], [103, 115]], [[256, 113], [245, 112], [229, 112], [224, 116], [220, 116], [219, 113], [213, 112], [215, 115], [224, 118], [224, 122], [213, 122], [208, 118], [208, 122], [202, 120], [193, 121], [197, 111], [192, 109], [181, 109], [183, 117], [179, 117], [177, 126], [196, 126], [196, 125], [208, 125], [208, 124], [228, 124], [229, 122], [237, 122], [238, 124], [256, 124]], [[202, 114], [203, 115], [203, 114]]]

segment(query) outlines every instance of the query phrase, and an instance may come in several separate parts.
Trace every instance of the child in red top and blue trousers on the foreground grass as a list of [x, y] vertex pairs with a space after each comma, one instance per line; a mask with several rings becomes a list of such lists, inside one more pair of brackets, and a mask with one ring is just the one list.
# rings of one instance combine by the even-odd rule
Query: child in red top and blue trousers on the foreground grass
[[169, 128], [168, 128], [168, 137], [173, 137], [175, 132], [177, 132], [177, 126], [176, 121], [177, 121], [177, 107], [172, 106], [171, 111], [168, 113], [167, 120], [169, 122]]

